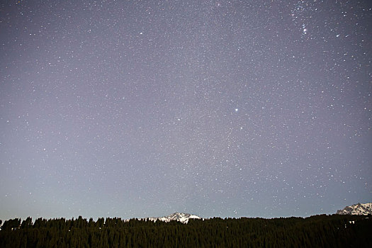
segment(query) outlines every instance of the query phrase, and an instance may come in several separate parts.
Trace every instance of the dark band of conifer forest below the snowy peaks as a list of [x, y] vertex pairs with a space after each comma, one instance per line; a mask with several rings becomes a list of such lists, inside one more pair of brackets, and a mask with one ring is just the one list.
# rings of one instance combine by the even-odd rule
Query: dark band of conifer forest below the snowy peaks
[[372, 247], [372, 218], [210, 218], [171, 221], [5, 220], [0, 247]]

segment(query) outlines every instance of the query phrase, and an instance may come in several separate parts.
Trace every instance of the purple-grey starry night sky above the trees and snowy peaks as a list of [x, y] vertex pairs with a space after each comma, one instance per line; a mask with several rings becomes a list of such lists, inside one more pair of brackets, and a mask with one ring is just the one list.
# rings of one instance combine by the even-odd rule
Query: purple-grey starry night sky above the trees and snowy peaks
[[372, 201], [371, 1], [1, 1], [0, 219]]

